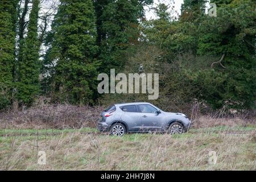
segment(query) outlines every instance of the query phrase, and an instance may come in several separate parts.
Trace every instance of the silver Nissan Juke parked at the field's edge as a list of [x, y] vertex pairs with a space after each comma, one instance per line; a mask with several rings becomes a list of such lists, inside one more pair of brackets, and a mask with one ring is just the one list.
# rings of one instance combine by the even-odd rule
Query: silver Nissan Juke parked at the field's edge
[[167, 113], [146, 103], [115, 104], [101, 113], [97, 128], [121, 137], [125, 133], [167, 132], [181, 134], [191, 121], [185, 114]]

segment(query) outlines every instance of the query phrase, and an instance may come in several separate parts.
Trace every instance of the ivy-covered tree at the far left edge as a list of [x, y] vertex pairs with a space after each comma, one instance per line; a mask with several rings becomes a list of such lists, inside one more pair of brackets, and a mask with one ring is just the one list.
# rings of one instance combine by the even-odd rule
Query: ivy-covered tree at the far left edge
[[0, 1], [0, 109], [10, 105], [12, 98], [16, 3]]

